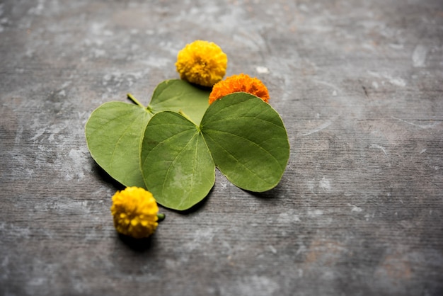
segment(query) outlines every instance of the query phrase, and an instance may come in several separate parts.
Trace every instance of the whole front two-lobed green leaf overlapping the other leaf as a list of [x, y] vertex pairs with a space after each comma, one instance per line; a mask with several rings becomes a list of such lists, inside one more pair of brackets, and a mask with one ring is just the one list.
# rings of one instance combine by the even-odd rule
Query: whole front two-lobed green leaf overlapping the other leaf
[[233, 93], [207, 108], [200, 127], [178, 113], [154, 115], [141, 169], [158, 203], [186, 210], [214, 185], [214, 163], [239, 188], [263, 192], [279, 183], [288, 159], [280, 115], [260, 98]]

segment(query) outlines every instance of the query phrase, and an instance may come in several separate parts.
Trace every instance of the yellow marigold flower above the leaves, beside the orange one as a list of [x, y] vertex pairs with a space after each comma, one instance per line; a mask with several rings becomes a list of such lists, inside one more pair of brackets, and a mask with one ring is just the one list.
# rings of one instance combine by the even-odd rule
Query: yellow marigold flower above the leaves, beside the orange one
[[223, 79], [228, 57], [214, 42], [196, 40], [178, 52], [176, 67], [180, 79], [210, 87]]

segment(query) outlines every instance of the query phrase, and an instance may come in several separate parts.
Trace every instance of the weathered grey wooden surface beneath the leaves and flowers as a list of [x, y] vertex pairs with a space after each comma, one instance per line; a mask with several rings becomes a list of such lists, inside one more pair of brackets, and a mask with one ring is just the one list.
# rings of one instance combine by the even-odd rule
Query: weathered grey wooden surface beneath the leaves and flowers
[[[289, 165], [134, 244], [84, 125], [196, 39], [268, 86]], [[442, 1], [6, 0], [0, 40], [1, 295], [443, 295]]]

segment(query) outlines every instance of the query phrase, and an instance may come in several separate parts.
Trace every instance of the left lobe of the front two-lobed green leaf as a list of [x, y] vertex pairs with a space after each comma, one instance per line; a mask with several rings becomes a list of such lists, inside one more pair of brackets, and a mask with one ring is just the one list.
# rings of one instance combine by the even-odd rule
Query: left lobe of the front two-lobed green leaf
[[209, 193], [215, 165], [198, 127], [173, 112], [149, 121], [141, 153], [144, 182], [158, 203], [187, 210]]

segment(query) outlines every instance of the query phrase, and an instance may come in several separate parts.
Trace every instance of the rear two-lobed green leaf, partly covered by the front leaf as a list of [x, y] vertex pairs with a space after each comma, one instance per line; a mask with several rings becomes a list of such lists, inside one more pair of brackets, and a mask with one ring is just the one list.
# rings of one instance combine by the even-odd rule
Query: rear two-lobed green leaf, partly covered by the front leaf
[[144, 108], [108, 102], [91, 113], [86, 123], [86, 142], [91, 156], [110, 176], [125, 186], [145, 187], [140, 171], [140, 145], [149, 119], [163, 110], [183, 111], [200, 123], [208, 106], [209, 91], [186, 81], [161, 82]]

